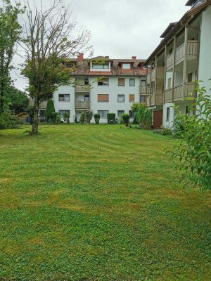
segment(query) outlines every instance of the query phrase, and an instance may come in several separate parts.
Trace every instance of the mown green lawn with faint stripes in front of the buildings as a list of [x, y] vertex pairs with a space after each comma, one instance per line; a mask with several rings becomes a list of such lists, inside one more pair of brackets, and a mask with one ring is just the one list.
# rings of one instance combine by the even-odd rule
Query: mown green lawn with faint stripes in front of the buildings
[[0, 280], [211, 280], [210, 195], [177, 141], [117, 125], [0, 136]]

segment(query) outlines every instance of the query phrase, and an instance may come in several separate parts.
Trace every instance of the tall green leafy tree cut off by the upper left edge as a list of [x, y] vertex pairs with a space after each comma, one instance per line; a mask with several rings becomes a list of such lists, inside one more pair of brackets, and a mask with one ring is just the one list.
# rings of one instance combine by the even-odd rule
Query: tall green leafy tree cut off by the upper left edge
[[4, 96], [6, 88], [11, 83], [10, 71], [13, 69], [12, 60], [15, 44], [20, 40], [21, 26], [18, 15], [24, 13], [20, 3], [11, 4], [3, 0], [0, 8], [0, 114], [4, 112]]

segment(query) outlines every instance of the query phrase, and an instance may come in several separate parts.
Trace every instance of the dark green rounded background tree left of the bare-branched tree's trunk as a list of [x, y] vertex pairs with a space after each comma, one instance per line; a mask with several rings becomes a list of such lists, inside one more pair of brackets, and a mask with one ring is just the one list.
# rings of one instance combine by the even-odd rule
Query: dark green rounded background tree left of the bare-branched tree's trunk
[[27, 112], [30, 105], [27, 93], [16, 89], [14, 86], [6, 87], [4, 100], [6, 100], [8, 109], [15, 113]]

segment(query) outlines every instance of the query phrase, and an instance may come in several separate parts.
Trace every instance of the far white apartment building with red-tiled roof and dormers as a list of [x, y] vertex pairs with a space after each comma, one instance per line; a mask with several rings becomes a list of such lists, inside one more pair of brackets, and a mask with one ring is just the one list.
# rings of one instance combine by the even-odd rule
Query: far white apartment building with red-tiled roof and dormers
[[[61, 118], [70, 113], [70, 122], [79, 122], [84, 110], [92, 110], [101, 116], [100, 122], [107, 123], [107, 113], [115, 113], [117, 119], [129, 113], [133, 118], [131, 105], [144, 102], [146, 98], [145, 60], [110, 59], [99, 56], [86, 59], [83, 53], [63, 63], [71, 67], [70, 85], [60, 86], [53, 94], [56, 112]], [[31, 101], [32, 105], [33, 101]], [[46, 102], [41, 103], [39, 119], [44, 120]], [[91, 120], [94, 122], [94, 118]]]

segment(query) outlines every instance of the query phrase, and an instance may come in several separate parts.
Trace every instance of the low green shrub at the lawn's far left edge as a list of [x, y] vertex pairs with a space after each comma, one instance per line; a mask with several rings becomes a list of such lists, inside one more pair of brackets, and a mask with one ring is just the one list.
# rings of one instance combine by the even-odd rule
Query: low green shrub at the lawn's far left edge
[[4, 129], [19, 129], [22, 119], [11, 112], [4, 112], [0, 115], [0, 130]]

